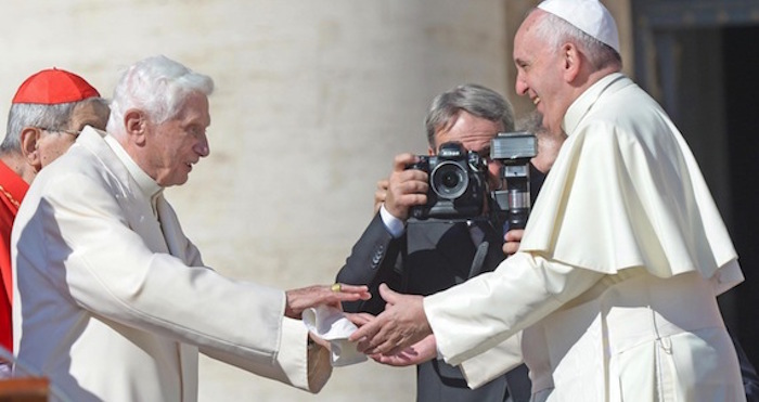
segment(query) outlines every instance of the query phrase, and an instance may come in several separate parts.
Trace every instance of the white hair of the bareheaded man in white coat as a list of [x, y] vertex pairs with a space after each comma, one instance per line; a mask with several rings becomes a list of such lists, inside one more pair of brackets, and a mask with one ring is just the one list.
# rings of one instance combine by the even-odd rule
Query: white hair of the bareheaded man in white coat
[[210, 95], [214, 80], [163, 55], [142, 60], [129, 67], [116, 85], [106, 129], [124, 133], [124, 115], [130, 108], [162, 124], [176, 117], [193, 92]]

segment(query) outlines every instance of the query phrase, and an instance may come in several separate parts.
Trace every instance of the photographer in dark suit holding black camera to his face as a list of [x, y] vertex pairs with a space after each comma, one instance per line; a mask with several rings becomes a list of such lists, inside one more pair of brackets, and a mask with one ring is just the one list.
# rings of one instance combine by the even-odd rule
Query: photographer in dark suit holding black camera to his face
[[[381, 181], [378, 210], [353, 246], [337, 281], [381, 283], [430, 295], [492, 271], [504, 258], [501, 228], [488, 219], [488, 191], [501, 187], [501, 164], [490, 159], [491, 140], [514, 129], [511, 105], [494, 91], [459, 86], [433, 101], [425, 119], [428, 156], [401, 154]], [[345, 302], [348, 312], [377, 314], [380, 297]], [[530, 382], [523, 365], [472, 390], [461, 371], [442, 361], [420, 364], [416, 400], [527, 401]]]

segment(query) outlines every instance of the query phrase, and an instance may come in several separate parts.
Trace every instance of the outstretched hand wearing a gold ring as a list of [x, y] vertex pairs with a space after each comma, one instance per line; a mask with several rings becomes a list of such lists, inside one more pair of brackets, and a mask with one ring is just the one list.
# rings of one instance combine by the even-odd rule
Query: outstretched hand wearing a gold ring
[[[338, 285], [338, 286], [337, 286]], [[335, 287], [337, 286], [337, 287]], [[300, 320], [304, 310], [327, 304], [340, 308], [343, 301], [369, 300], [369, 287], [361, 285], [313, 285], [285, 291], [285, 316]]]

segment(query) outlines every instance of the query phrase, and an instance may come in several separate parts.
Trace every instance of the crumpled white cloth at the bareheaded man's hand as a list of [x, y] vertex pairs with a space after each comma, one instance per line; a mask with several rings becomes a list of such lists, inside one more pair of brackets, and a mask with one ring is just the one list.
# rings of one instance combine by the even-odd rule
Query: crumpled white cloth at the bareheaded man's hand
[[308, 330], [330, 341], [333, 367], [366, 361], [366, 355], [356, 350], [356, 343], [348, 341], [358, 327], [339, 309], [330, 306], [306, 309], [303, 321]]

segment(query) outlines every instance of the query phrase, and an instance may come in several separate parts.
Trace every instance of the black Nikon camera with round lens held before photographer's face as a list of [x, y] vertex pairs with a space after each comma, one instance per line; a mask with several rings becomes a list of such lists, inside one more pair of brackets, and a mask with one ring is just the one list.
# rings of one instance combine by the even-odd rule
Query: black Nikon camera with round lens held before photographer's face
[[407, 169], [429, 174], [425, 205], [411, 207], [411, 217], [472, 218], [483, 213], [487, 194], [487, 163], [477, 153], [466, 152], [461, 143], [440, 145], [436, 156], [419, 155], [419, 163]]

